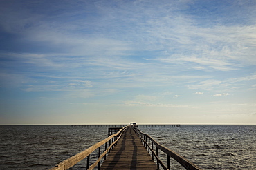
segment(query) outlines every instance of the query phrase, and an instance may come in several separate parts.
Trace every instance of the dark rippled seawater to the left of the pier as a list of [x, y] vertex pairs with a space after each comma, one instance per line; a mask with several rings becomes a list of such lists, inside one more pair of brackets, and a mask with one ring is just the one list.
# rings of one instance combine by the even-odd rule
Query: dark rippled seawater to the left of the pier
[[0, 126], [0, 133], [0, 169], [49, 169], [107, 138], [107, 127]]

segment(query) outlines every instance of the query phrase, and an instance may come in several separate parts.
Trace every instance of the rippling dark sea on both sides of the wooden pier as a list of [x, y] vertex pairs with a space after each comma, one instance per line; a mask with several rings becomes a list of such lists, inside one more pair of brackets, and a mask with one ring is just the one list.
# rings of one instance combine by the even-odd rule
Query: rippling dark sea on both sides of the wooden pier
[[[50, 169], [106, 138], [107, 129], [0, 126], [0, 169]], [[256, 169], [256, 125], [181, 125], [140, 130], [202, 169]], [[174, 160], [171, 162], [172, 169], [183, 169]], [[73, 169], [85, 166], [84, 161]]]

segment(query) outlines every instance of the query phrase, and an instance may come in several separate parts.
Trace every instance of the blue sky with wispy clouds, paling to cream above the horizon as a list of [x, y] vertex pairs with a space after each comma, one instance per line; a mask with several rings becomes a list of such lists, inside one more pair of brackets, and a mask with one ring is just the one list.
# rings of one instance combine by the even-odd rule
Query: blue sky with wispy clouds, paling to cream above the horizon
[[255, 125], [255, 54], [255, 0], [1, 0], [0, 125]]

